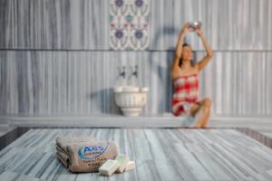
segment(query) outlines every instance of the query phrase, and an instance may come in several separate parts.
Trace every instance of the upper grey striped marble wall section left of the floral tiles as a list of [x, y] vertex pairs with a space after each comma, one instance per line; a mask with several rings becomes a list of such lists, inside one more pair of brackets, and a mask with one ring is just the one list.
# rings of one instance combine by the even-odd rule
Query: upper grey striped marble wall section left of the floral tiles
[[0, 2], [0, 47], [109, 49], [108, 0]]

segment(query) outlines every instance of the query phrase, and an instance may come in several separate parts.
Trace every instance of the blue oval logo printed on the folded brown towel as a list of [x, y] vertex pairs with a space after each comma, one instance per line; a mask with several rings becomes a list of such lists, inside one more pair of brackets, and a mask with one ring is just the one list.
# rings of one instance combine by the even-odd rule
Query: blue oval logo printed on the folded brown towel
[[109, 146], [109, 142], [105, 147], [102, 146], [85, 146], [78, 150], [78, 156], [82, 159], [93, 159], [102, 156]]

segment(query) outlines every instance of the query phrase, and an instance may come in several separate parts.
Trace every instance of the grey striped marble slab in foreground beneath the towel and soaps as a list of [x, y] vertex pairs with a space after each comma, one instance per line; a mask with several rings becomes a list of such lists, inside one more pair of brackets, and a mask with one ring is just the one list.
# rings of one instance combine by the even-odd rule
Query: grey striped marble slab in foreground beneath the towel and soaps
[[[73, 174], [55, 157], [60, 135], [113, 140], [136, 169]], [[272, 149], [236, 129], [30, 129], [0, 152], [0, 180], [272, 180]]]

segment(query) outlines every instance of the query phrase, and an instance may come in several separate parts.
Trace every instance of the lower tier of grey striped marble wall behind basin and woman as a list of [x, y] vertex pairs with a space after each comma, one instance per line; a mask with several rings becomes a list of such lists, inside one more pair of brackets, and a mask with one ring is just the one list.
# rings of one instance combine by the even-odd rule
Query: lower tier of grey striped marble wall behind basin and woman
[[[204, 52], [195, 52], [200, 60]], [[170, 112], [173, 52], [0, 52], [0, 114], [118, 114], [112, 88], [150, 87], [142, 115]], [[131, 75], [138, 65], [139, 77]], [[126, 67], [125, 79], [120, 69]], [[199, 73], [199, 99], [217, 116], [272, 117], [272, 53], [214, 52]]]

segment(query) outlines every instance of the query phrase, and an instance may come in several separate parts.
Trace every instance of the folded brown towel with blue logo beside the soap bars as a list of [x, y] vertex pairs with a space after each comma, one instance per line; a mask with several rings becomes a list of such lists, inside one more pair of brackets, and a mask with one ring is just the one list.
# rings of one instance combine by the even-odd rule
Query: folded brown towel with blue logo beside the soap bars
[[56, 155], [72, 172], [97, 172], [108, 159], [119, 155], [119, 148], [112, 141], [93, 137], [59, 137], [56, 138]]

